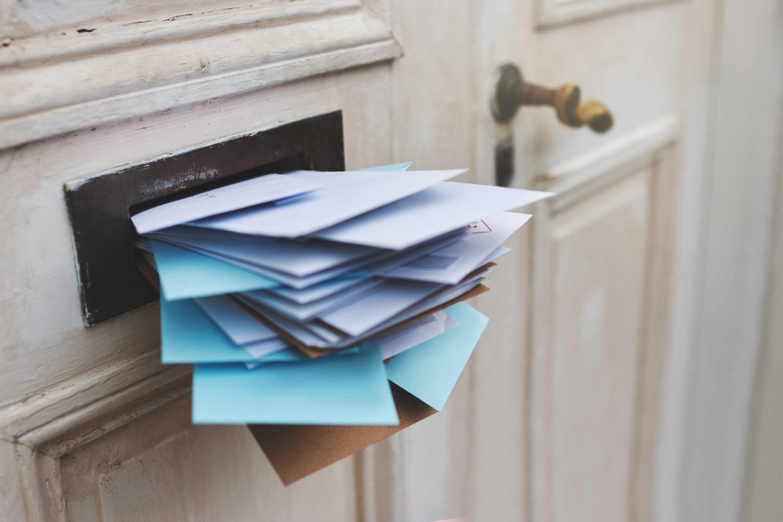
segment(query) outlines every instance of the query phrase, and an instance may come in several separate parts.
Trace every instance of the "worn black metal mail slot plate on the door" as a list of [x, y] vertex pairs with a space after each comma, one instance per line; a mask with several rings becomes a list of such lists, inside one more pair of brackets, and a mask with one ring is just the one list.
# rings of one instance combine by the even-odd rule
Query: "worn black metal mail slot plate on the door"
[[158, 298], [135, 265], [131, 208], [290, 169], [345, 170], [341, 111], [66, 183], [85, 324]]

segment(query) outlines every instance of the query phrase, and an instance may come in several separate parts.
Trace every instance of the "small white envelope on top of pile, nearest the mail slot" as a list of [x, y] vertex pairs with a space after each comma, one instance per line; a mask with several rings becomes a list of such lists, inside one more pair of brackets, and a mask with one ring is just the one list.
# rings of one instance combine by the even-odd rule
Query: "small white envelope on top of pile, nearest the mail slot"
[[314, 181], [280, 174], [267, 174], [148, 208], [132, 216], [131, 221], [136, 227], [136, 232], [147, 234], [153, 230], [161, 230], [194, 219], [290, 198], [319, 188], [321, 185]]

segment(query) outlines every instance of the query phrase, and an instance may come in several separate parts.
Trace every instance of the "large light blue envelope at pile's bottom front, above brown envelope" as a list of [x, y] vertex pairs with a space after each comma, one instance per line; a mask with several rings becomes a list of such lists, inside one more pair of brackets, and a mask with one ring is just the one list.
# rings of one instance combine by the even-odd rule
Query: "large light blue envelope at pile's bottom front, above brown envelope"
[[196, 364], [193, 422], [207, 424], [399, 424], [377, 343], [359, 353], [301, 362]]

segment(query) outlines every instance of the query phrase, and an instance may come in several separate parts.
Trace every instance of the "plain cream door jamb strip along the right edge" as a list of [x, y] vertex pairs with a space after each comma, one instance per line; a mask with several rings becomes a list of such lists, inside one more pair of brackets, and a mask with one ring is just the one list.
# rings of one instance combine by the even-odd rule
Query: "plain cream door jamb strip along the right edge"
[[682, 502], [685, 520], [734, 522], [742, 520], [752, 393], [770, 291], [783, 133], [783, 9], [774, 0], [752, 9], [727, 0], [720, 21]]

